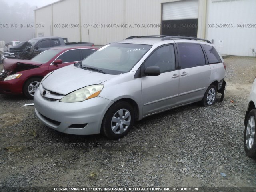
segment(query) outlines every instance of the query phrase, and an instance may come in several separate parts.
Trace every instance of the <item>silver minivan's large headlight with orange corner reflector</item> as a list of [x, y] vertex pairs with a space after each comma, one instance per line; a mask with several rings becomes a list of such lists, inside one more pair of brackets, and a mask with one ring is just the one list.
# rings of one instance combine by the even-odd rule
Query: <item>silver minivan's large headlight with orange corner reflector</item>
[[64, 96], [60, 102], [81, 102], [87, 99], [97, 97], [104, 85], [90, 85], [81, 89], [78, 89], [70, 94]]

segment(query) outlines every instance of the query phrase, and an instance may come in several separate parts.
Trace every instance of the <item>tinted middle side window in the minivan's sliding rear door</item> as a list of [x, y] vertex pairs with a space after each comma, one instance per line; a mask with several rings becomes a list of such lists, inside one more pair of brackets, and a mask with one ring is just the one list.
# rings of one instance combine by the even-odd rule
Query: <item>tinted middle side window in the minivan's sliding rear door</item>
[[204, 52], [200, 44], [178, 44], [180, 69], [205, 65]]

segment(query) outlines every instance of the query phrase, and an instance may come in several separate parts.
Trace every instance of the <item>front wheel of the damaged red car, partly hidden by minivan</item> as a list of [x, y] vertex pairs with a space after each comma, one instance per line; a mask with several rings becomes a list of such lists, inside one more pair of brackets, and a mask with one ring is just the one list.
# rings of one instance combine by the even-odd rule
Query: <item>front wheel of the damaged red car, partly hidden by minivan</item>
[[34, 77], [27, 80], [27, 82], [23, 86], [23, 93], [28, 99], [33, 99], [34, 94], [41, 82], [41, 78]]

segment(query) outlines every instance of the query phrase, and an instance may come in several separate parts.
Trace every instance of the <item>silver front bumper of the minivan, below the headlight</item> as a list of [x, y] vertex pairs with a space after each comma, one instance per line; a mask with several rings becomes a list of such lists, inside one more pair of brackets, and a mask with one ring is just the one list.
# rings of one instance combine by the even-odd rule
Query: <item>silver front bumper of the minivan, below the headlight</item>
[[[99, 96], [83, 102], [66, 103], [47, 100], [40, 91], [36, 91], [34, 95], [36, 115], [46, 126], [59, 132], [76, 135], [99, 134], [102, 119], [113, 103]], [[85, 126], [70, 128], [81, 124]]]

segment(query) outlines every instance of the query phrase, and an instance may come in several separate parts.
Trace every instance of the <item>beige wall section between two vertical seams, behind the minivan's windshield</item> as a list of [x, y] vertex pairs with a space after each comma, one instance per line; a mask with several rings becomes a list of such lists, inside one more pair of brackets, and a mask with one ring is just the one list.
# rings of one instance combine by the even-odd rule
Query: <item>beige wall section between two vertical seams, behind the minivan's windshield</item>
[[[82, 41], [107, 44], [123, 38], [124, 0], [81, 0]], [[106, 27], [107, 25], [108, 27]]]

